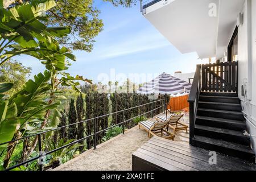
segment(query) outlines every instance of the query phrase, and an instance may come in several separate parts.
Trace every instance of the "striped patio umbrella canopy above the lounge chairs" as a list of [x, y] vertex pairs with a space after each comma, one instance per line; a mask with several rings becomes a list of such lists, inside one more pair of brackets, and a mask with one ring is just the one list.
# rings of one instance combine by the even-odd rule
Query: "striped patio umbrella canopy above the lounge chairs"
[[167, 73], [162, 73], [137, 90], [138, 94], [180, 95], [189, 93], [192, 84]]

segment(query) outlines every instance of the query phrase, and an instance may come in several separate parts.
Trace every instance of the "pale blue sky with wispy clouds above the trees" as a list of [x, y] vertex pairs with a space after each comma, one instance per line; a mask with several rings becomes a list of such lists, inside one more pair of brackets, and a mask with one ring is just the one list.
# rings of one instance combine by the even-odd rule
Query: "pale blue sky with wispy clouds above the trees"
[[[110, 70], [123, 73], [145, 73], [159, 75], [175, 71], [183, 73], [195, 72], [196, 53], [182, 55], [139, 11], [139, 5], [131, 8], [114, 7], [108, 2], [96, 1], [101, 10], [100, 18], [104, 21], [104, 31], [96, 37], [93, 51], [73, 52], [77, 61], [72, 63], [69, 73], [81, 75], [93, 80], [94, 83], [106, 82], [98, 80]], [[29, 57], [16, 57], [26, 66], [32, 68], [32, 74], [43, 72], [44, 67], [39, 61]], [[112, 81], [113, 80], [112, 78]], [[119, 80], [118, 80], [119, 81]], [[142, 82], [142, 81], [138, 81]]]

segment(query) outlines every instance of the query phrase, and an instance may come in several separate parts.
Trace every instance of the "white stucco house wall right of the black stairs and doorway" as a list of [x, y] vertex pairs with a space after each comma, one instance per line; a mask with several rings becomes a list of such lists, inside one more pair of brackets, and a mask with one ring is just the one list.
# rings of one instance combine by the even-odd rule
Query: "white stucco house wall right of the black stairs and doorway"
[[[238, 96], [247, 114], [247, 129], [256, 136], [256, 2], [246, 0], [242, 13], [243, 24], [238, 28]], [[248, 100], [241, 96], [241, 85], [245, 79], [249, 85]], [[256, 137], [251, 137], [251, 143], [256, 152]]]

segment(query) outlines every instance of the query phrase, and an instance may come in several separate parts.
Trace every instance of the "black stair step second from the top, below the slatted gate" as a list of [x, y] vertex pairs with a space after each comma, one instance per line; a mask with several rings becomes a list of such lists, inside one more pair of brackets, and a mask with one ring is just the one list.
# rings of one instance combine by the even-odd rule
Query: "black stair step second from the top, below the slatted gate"
[[199, 101], [224, 102], [224, 103], [234, 103], [234, 104], [241, 103], [238, 97], [225, 97], [225, 96], [200, 96]]

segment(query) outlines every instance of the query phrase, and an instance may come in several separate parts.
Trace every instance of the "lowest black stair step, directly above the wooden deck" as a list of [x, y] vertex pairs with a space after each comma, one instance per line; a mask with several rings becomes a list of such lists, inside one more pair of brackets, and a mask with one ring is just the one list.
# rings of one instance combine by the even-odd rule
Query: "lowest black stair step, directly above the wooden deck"
[[253, 150], [251, 150], [250, 147], [244, 146], [242, 144], [226, 142], [223, 140], [203, 137], [199, 135], [195, 135], [195, 137], [192, 138], [191, 144], [196, 147], [205, 148], [207, 150], [212, 150], [229, 156], [248, 160], [252, 163], [255, 162], [255, 154]]

